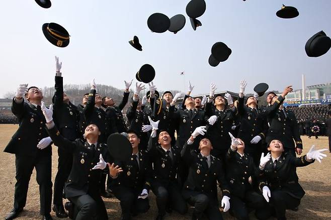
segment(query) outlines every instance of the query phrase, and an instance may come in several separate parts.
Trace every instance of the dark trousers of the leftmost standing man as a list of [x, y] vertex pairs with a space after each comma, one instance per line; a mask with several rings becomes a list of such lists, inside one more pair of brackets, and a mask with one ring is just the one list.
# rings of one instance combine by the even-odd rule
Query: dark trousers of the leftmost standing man
[[16, 184], [14, 208], [23, 209], [25, 206], [30, 177], [33, 168], [36, 168], [36, 179], [40, 193], [40, 214], [45, 215], [50, 213], [52, 202], [52, 156], [15, 156]]

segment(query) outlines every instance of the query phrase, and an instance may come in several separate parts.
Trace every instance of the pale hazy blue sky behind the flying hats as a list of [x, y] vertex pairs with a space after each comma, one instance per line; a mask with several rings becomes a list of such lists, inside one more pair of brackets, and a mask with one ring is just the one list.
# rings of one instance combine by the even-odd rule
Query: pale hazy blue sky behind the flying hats
[[[247, 92], [259, 82], [282, 90], [292, 84], [301, 87], [331, 81], [331, 51], [318, 58], [305, 54], [304, 45], [323, 30], [331, 36], [329, 0], [209, 0], [202, 27], [193, 31], [185, 8], [189, 1], [143, 0], [54, 0], [50, 9], [33, 0], [3, 1], [0, 8], [1, 86], [0, 96], [14, 91], [20, 83], [53, 86], [54, 56], [63, 62], [64, 83], [97, 83], [124, 88], [123, 80], [133, 79], [141, 65], [156, 71], [159, 90], [184, 89], [188, 81], [193, 94], [209, 91], [210, 82], [218, 90], [237, 92], [246, 79]], [[282, 4], [294, 6], [300, 15], [284, 20], [275, 13]], [[183, 30], [151, 33], [146, 21], [159, 12], [171, 18], [186, 16]], [[50, 44], [41, 27], [55, 22], [71, 35], [66, 48]], [[143, 51], [128, 43], [137, 35]], [[217, 67], [208, 64], [211, 46], [222, 41], [232, 50], [229, 59]], [[180, 72], [185, 71], [185, 77]]]

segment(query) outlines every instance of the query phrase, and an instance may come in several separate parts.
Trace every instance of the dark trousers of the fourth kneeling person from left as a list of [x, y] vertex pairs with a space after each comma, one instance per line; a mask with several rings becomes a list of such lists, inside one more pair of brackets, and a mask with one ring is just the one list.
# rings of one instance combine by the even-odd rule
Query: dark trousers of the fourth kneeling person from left
[[210, 220], [222, 220], [222, 214], [218, 207], [218, 201], [215, 196], [207, 195], [202, 192], [183, 189], [183, 196], [189, 204], [194, 205], [193, 214], [201, 218], [205, 214]]

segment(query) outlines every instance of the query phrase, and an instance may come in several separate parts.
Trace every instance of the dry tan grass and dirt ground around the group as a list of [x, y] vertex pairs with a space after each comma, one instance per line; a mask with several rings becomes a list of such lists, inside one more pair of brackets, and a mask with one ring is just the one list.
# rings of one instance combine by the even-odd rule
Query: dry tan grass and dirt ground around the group
[[[15, 155], [4, 153], [3, 150], [12, 135], [17, 129], [17, 125], [0, 125], [0, 218], [4, 218], [12, 208], [14, 199], [15, 179]], [[304, 153], [307, 153], [310, 146], [314, 144], [316, 148], [327, 148], [327, 137], [308, 139], [306, 136], [301, 137], [303, 140]], [[317, 161], [310, 166], [298, 168], [299, 182], [306, 191], [301, 200], [297, 212], [287, 211], [288, 219], [331, 219], [331, 154], [327, 151], [327, 158], [322, 163]], [[57, 167], [57, 148], [53, 147], [53, 169], [52, 181], [56, 175]], [[134, 219], [154, 219], [157, 214], [155, 196], [152, 192], [149, 195], [151, 208], [145, 214], [139, 215]], [[121, 207], [119, 201], [115, 198], [105, 199], [109, 219], [119, 219]], [[165, 219], [191, 219], [192, 208], [185, 216], [175, 212], [167, 214]], [[61, 219], [51, 212], [54, 219]], [[225, 219], [234, 219], [228, 213], [223, 214]], [[254, 215], [251, 214], [252, 219]], [[17, 219], [39, 219], [39, 187], [36, 182], [35, 171], [30, 180], [28, 192], [28, 201], [24, 211]]]

